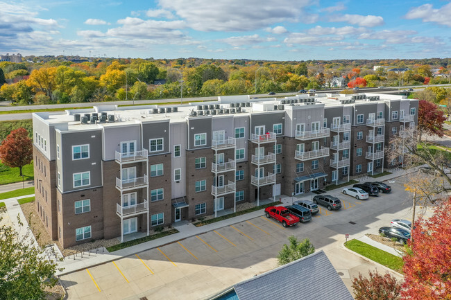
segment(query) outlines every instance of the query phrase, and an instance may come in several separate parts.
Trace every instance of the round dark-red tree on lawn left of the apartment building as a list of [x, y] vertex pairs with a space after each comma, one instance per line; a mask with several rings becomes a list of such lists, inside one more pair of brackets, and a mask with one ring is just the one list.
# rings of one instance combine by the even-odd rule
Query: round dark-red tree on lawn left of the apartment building
[[33, 141], [28, 137], [25, 128], [12, 130], [1, 142], [0, 159], [10, 168], [19, 168], [22, 176], [22, 167], [30, 164], [33, 159]]

